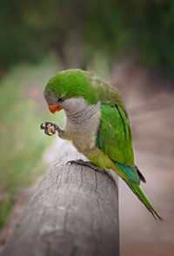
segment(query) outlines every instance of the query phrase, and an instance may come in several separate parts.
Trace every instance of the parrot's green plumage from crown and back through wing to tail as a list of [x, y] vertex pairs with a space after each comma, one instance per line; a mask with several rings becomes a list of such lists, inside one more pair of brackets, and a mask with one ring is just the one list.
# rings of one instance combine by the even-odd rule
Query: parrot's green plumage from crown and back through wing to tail
[[[93, 77], [88, 71], [68, 70], [59, 72], [50, 79], [44, 91], [47, 102], [50, 101], [52, 94], [57, 98], [83, 97], [87, 104], [100, 102], [101, 118], [97, 130], [97, 148], [110, 158], [117, 167], [114, 167], [115, 171], [119, 170], [118, 174], [151, 214], [161, 219], [139, 187], [140, 179], [144, 181], [144, 177], [134, 164], [131, 127], [117, 89]], [[101, 157], [97, 157], [98, 163], [100, 160]]]

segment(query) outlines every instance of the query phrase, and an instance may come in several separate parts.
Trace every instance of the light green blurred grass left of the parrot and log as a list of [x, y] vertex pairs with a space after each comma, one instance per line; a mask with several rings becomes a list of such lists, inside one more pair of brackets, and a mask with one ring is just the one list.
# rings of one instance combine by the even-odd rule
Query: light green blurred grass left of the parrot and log
[[43, 102], [43, 86], [59, 70], [46, 58], [37, 65], [19, 65], [0, 83], [0, 226], [7, 218], [18, 190], [45, 170], [43, 151], [52, 138], [44, 136], [41, 123], [62, 118], [50, 115]]

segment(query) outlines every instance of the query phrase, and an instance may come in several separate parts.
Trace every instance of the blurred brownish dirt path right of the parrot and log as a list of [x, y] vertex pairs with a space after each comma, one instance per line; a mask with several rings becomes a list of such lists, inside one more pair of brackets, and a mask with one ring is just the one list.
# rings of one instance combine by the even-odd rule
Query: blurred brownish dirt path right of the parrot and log
[[136, 164], [142, 188], [164, 222], [153, 219], [120, 180], [122, 256], [174, 255], [174, 91], [172, 81], [151, 70], [123, 64], [120, 91], [131, 118]]

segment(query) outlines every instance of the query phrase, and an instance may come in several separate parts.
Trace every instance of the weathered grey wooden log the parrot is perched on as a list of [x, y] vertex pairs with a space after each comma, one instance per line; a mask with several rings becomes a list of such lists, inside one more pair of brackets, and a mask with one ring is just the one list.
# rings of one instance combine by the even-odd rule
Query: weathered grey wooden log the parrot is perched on
[[119, 255], [115, 176], [65, 165], [79, 157], [70, 145], [60, 146], [2, 256]]

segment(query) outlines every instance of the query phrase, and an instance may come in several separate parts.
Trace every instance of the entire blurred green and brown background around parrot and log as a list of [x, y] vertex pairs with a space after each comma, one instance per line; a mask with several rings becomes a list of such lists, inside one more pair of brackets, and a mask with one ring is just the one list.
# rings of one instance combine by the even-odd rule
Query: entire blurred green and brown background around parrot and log
[[[119, 182], [121, 255], [174, 255], [174, 2], [0, 1], [0, 246], [54, 159], [43, 88], [82, 68], [115, 84], [130, 113], [142, 185], [164, 217], [151, 217]], [[58, 152], [56, 152], [58, 153]]]

